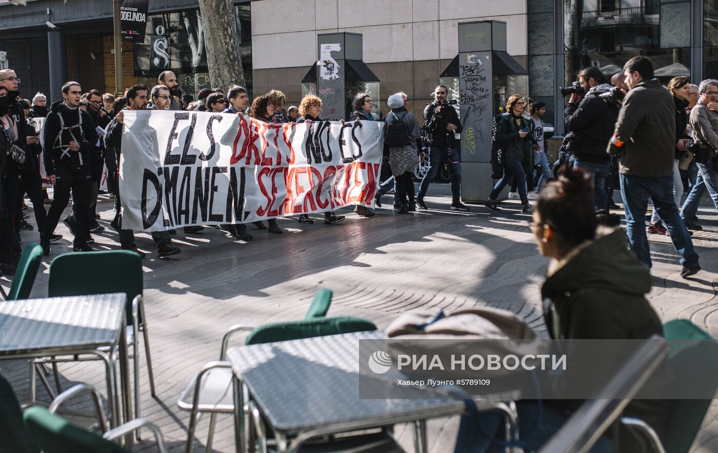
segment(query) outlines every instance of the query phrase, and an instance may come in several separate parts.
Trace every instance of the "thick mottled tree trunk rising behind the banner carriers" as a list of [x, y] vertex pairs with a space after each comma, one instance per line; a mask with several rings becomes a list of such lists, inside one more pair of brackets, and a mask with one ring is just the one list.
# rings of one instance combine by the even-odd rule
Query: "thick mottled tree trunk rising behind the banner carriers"
[[245, 86], [232, 0], [200, 0], [200, 14], [212, 86], [225, 93], [231, 85]]

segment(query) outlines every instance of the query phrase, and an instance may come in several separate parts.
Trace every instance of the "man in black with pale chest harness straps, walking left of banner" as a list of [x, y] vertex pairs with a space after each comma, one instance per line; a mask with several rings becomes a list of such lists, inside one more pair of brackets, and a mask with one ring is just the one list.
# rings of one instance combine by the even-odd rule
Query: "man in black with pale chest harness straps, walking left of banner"
[[90, 162], [99, 152], [98, 136], [90, 114], [78, 108], [82, 88], [77, 82], [62, 85], [62, 101], [52, 103], [45, 120], [45, 170], [55, 197], [47, 213], [47, 223], [40, 231], [40, 245], [50, 255], [50, 236], [60, 221], [62, 211], [73, 193], [75, 228], [73, 251], [93, 251], [90, 239]]

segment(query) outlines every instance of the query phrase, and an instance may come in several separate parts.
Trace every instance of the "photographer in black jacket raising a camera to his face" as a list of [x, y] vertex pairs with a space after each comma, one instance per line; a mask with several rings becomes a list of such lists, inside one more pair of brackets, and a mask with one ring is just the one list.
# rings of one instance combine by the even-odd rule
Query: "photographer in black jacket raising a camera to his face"
[[579, 72], [578, 83], [572, 86], [569, 105], [564, 110], [569, 131], [564, 144], [576, 157], [574, 167], [581, 167], [591, 174], [596, 210], [606, 207], [605, 180], [611, 172], [606, 146], [618, 116], [615, 102], [599, 97], [610, 88], [597, 67], [586, 67]]

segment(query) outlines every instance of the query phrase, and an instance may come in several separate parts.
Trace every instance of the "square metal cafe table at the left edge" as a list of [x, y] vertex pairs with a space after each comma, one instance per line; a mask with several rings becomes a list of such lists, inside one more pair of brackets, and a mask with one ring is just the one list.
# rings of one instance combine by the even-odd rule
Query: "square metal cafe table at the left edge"
[[[121, 374], [123, 416], [126, 421], [131, 418], [125, 339], [126, 300], [126, 294], [115, 293], [0, 302], [0, 360], [95, 355], [106, 367], [111, 426], [118, 426], [117, 363]], [[116, 346], [119, 346], [119, 357]], [[101, 347], [103, 351], [99, 350]], [[34, 365], [30, 368], [34, 370]], [[34, 375], [30, 386], [34, 396]]]

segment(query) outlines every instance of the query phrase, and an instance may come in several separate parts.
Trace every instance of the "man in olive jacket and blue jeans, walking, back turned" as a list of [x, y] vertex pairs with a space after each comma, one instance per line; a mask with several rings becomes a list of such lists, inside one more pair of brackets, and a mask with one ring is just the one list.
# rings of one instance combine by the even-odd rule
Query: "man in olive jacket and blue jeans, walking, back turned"
[[651, 267], [645, 233], [645, 211], [651, 199], [681, 255], [681, 276], [686, 278], [700, 271], [701, 266], [673, 200], [676, 145], [673, 96], [653, 77], [653, 64], [646, 57], [628, 60], [623, 74], [630, 90], [618, 115], [608, 152], [620, 155], [621, 196], [630, 249]]

